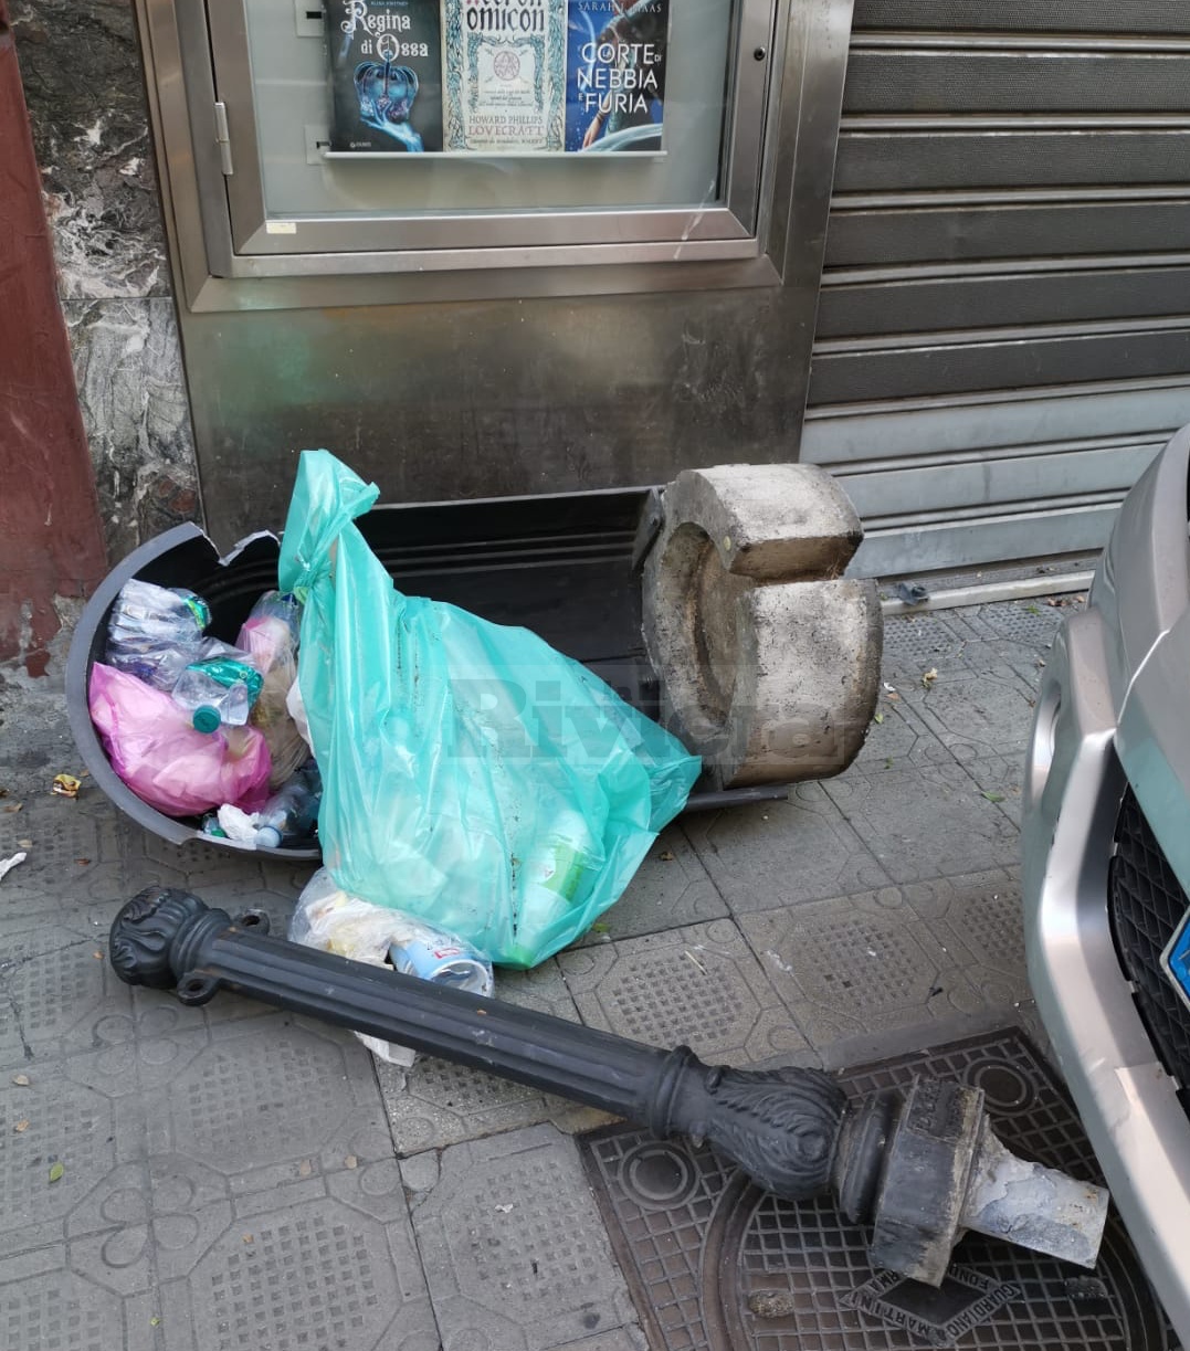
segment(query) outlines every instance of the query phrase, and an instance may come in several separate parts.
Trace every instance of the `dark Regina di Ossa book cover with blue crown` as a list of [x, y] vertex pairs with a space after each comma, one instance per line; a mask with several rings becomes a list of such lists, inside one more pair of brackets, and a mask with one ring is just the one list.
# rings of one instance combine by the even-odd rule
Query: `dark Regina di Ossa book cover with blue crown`
[[439, 0], [326, 0], [331, 150], [442, 150]]

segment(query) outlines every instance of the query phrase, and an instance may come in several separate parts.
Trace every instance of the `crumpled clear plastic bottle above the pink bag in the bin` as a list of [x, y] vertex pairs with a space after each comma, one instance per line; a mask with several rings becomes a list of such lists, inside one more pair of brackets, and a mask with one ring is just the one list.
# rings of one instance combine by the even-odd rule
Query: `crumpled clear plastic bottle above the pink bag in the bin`
[[108, 666], [153, 685], [173, 689], [199, 657], [211, 623], [207, 603], [185, 588], [124, 582], [108, 617]]

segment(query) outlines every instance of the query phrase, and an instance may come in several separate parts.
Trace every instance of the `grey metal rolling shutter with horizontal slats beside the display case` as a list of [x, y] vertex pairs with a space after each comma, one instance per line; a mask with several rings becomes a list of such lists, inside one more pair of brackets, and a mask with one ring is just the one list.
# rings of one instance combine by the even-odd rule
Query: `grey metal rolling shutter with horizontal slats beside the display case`
[[852, 570], [1097, 549], [1186, 422], [1190, 4], [856, 0], [801, 451]]

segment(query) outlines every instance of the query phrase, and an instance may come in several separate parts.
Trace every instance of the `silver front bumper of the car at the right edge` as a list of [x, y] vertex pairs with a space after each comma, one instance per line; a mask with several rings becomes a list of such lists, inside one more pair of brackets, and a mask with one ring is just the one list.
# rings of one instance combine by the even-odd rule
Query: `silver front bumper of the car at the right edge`
[[1190, 858], [1190, 665], [1172, 689], [1155, 680], [1190, 638], [1187, 457], [1190, 430], [1129, 494], [1086, 612], [1047, 658], [1023, 850], [1039, 1012], [1145, 1271], [1190, 1344], [1190, 1120], [1121, 971], [1108, 911], [1129, 780], [1182, 885], [1190, 880], [1178, 858]]

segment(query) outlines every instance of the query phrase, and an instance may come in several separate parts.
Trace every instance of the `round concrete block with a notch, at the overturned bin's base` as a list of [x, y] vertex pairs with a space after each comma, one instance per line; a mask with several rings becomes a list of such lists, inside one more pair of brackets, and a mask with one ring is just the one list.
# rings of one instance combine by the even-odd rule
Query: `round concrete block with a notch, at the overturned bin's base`
[[[786, 473], [802, 467], [681, 474], [646, 559], [663, 717], [721, 788], [840, 773], [875, 708], [879, 597], [874, 582], [837, 576], [862, 530], [829, 477], [824, 489], [821, 471]], [[813, 503], [782, 500], [806, 484]]]

